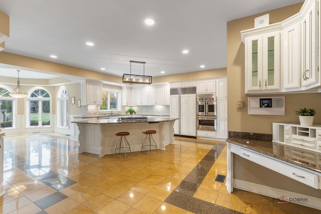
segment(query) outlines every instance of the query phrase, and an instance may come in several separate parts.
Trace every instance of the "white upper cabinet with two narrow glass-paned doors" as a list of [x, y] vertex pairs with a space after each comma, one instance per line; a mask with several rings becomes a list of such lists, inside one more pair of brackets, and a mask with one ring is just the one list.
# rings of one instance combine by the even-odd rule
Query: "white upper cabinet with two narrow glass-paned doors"
[[245, 93], [280, 89], [280, 33], [245, 38]]

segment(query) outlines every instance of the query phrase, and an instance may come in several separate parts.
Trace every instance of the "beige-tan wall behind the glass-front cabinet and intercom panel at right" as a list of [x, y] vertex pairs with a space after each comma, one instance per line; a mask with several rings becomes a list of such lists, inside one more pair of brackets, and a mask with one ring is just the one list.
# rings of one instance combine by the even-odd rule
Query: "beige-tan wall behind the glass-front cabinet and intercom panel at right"
[[[301, 6], [301, 3], [295, 4], [227, 23], [228, 131], [272, 134], [272, 122], [299, 123], [294, 112], [301, 107], [315, 108], [317, 113], [314, 124], [321, 124], [320, 93], [274, 95], [285, 96], [285, 116], [248, 115], [247, 112], [248, 96], [244, 92], [244, 44], [241, 42], [240, 31], [254, 28], [254, 18], [264, 14], [269, 14], [270, 24], [281, 22], [298, 13]], [[243, 101], [243, 109], [236, 108], [238, 100]]]

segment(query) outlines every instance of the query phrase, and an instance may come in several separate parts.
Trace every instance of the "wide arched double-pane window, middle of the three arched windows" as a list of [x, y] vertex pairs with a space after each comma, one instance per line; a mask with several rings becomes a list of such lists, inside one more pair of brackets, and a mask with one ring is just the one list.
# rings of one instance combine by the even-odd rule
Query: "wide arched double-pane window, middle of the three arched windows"
[[28, 93], [27, 126], [50, 126], [51, 98], [45, 89], [36, 89]]

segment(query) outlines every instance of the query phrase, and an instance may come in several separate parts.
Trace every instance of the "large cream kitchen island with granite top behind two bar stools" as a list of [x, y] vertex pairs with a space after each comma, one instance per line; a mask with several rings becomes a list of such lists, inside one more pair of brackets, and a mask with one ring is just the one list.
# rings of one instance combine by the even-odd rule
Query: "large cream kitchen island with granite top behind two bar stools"
[[79, 146], [77, 153], [89, 152], [99, 154], [103, 157], [106, 154], [113, 154], [114, 147], [118, 141], [117, 132], [127, 131], [126, 136], [131, 151], [140, 151], [141, 143], [146, 135], [143, 131], [156, 130], [153, 138], [158, 149], [165, 150], [165, 146], [175, 143], [174, 122], [179, 118], [151, 117], [147, 119], [97, 119], [86, 118], [85, 120], [73, 121], [79, 127]]

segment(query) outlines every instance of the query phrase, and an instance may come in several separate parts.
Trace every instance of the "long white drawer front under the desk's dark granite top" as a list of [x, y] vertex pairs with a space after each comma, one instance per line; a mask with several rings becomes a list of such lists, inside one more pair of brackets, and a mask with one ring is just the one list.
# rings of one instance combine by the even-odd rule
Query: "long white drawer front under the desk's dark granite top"
[[296, 168], [294, 166], [279, 162], [277, 160], [256, 154], [254, 152], [243, 149], [242, 147], [238, 149], [237, 152], [241, 157], [269, 168], [273, 171], [281, 173], [288, 176], [294, 180], [302, 182], [306, 185], [312, 186], [313, 188], [318, 188], [318, 175], [311, 172], [304, 171], [302, 169]]

